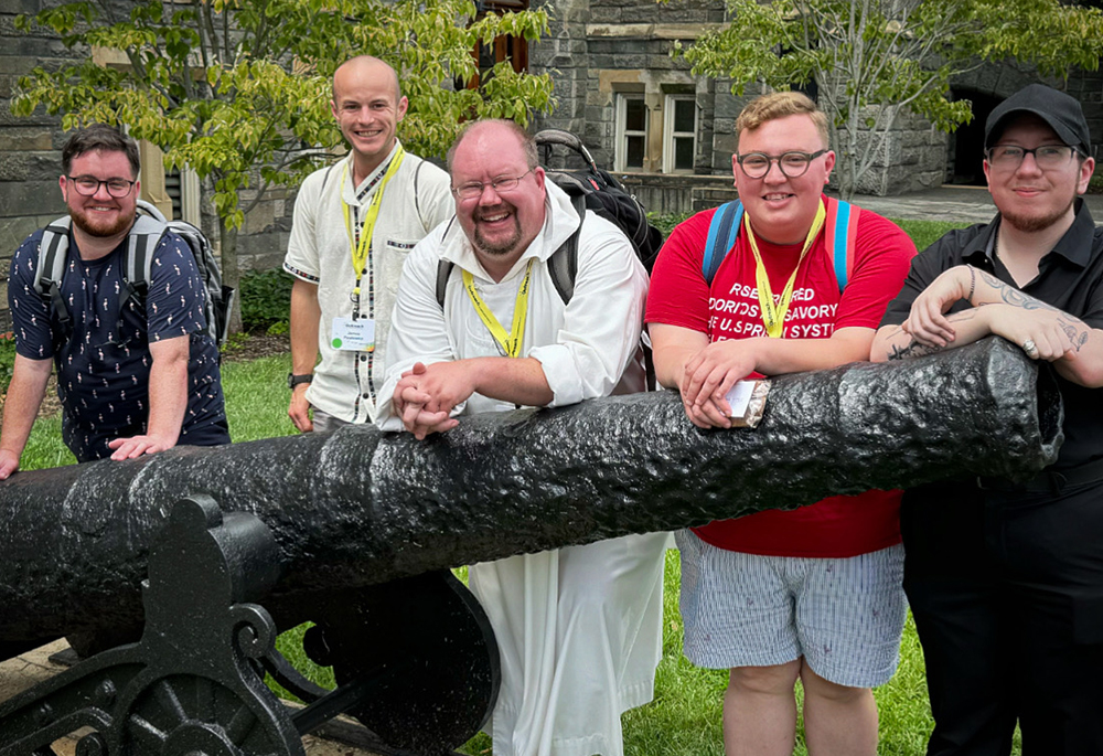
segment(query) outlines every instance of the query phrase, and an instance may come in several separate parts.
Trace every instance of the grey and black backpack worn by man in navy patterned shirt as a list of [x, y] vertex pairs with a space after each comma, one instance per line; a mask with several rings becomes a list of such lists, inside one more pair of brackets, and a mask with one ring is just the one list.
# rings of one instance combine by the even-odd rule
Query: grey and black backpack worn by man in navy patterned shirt
[[[68, 215], [60, 217], [46, 226], [39, 246], [39, 266], [34, 273], [34, 289], [50, 301], [61, 326], [69, 327], [68, 308], [61, 297], [62, 277], [65, 275], [65, 257], [68, 252], [69, 231], [73, 220]], [[206, 289], [206, 302], [203, 316], [207, 322], [206, 333], [222, 347], [226, 341], [229, 326], [229, 308], [234, 301], [234, 289], [222, 284], [222, 270], [214, 256], [211, 243], [203, 232], [184, 221], [167, 221], [154, 205], [138, 201], [138, 213], [135, 225], [127, 237], [126, 265], [122, 268], [122, 301], [119, 306], [121, 318], [127, 300], [133, 298], [142, 308], [146, 307], [146, 294], [149, 290], [150, 267], [153, 264], [153, 251], [165, 231], [171, 231], [182, 237], [195, 257], [195, 267]]]

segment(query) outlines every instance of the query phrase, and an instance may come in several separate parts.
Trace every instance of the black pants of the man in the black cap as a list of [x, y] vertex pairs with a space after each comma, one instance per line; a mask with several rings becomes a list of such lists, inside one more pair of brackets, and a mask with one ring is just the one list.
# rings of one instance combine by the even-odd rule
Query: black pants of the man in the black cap
[[[963, 488], [964, 487], [964, 488]], [[929, 756], [1103, 756], [1103, 487], [904, 494], [904, 590], [927, 660]]]

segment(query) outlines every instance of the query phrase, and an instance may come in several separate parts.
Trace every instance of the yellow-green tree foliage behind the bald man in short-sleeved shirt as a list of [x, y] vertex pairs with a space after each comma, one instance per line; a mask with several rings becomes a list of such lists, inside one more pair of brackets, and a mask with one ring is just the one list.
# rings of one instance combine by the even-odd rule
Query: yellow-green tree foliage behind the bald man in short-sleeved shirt
[[[473, 21], [471, 0], [158, 0], [72, 2], [19, 17], [18, 29], [54, 30], [72, 49], [117, 51], [122, 65], [84, 60], [20, 79], [12, 111], [44, 107], [66, 127], [126, 124], [213, 182], [213, 201], [228, 227], [248, 204], [240, 191], [259, 179], [297, 185], [341, 146], [329, 111], [333, 71], [355, 54], [373, 54], [399, 72], [410, 107], [399, 136], [411, 151], [442, 156], [464, 119], [496, 115], [527, 123], [549, 109], [548, 76], [508, 65], [465, 83], [479, 71], [472, 51], [501, 34], [528, 40], [547, 33], [544, 11]], [[473, 22], [472, 22], [473, 21]], [[253, 202], [253, 200], [250, 200]], [[225, 251], [224, 251], [225, 252]]]

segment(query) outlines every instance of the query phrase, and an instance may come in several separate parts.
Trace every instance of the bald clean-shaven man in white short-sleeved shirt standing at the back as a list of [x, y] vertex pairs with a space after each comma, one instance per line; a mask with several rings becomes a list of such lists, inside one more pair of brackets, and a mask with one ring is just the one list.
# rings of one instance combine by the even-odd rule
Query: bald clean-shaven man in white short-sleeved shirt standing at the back
[[375, 419], [403, 263], [454, 212], [448, 174], [395, 136], [407, 100], [394, 68], [346, 61], [330, 105], [350, 153], [303, 182], [283, 258], [296, 279], [288, 415], [303, 433]]

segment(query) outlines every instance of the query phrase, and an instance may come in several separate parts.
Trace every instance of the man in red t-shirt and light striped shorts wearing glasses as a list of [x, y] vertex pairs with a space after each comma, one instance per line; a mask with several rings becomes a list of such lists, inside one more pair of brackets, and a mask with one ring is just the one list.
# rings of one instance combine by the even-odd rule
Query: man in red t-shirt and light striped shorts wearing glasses
[[[844, 288], [823, 231], [837, 206], [823, 195], [835, 164], [826, 116], [804, 95], [777, 93], [751, 102], [736, 131], [745, 214], [735, 246], [716, 251], [727, 256], [709, 285], [716, 211], [694, 215], [663, 247], [647, 299], [658, 381], [681, 391], [702, 428], [731, 427], [724, 397], [740, 379], [867, 359], [915, 254], [898, 226], [853, 209]], [[792, 754], [797, 679], [810, 752], [875, 756], [870, 689], [896, 671], [904, 618], [899, 493], [832, 497], [677, 539], [686, 656], [730, 669], [728, 756]]]

